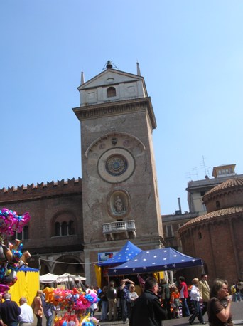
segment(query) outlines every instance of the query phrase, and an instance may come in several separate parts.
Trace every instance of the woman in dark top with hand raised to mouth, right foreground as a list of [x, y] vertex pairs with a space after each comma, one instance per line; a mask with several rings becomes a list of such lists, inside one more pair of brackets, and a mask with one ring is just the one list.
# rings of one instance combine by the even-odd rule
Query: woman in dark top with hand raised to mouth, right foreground
[[210, 291], [210, 301], [207, 305], [207, 315], [210, 326], [233, 326], [230, 311], [232, 298], [228, 293], [225, 280], [214, 281]]

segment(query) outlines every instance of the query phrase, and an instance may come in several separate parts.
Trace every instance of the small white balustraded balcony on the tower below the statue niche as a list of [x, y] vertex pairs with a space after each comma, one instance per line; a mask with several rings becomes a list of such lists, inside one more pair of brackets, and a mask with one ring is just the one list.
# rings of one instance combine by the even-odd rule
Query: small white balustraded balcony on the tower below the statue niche
[[128, 239], [129, 233], [132, 233], [134, 238], [136, 238], [136, 227], [134, 220], [103, 223], [102, 226], [105, 240], [108, 240], [108, 236], [114, 240], [115, 233], [125, 233], [126, 238]]

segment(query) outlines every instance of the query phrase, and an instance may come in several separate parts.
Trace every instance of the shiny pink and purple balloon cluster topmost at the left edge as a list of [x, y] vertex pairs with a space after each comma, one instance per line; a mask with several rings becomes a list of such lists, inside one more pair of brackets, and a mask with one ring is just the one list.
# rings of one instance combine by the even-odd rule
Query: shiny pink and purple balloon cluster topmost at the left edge
[[0, 210], [0, 233], [5, 236], [13, 236], [15, 232], [21, 233], [23, 226], [25, 226], [31, 216], [28, 213], [24, 213], [22, 216], [18, 216], [16, 211], [9, 209]]

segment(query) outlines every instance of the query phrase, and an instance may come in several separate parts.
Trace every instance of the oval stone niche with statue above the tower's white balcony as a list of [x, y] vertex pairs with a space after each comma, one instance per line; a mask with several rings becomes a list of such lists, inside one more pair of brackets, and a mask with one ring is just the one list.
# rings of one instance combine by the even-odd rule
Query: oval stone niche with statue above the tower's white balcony
[[111, 191], [107, 196], [107, 209], [109, 216], [114, 219], [124, 219], [131, 210], [131, 199], [126, 189], [119, 188]]

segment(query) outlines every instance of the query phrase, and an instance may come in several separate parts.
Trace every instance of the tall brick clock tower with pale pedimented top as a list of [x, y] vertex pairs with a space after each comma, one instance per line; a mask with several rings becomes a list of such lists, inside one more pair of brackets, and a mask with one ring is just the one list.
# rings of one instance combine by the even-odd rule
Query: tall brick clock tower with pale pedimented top
[[78, 87], [82, 147], [85, 275], [98, 253], [119, 251], [129, 239], [158, 248], [163, 229], [152, 132], [156, 128], [144, 78], [113, 68]]

